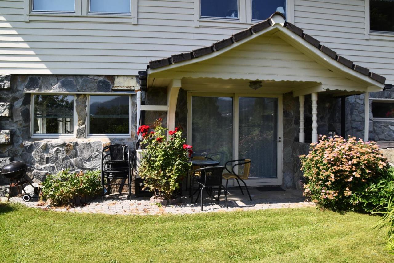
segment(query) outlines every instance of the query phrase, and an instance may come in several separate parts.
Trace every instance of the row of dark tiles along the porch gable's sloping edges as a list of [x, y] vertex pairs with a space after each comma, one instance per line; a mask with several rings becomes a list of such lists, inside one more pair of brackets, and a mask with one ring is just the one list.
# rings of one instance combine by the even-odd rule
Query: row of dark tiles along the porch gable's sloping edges
[[[283, 19], [286, 19], [286, 17], [282, 13], [275, 12], [268, 19], [260, 21], [255, 24], [252, 24], [249, 28], [241, 30], [241, 31], [233, 34], [229, 38], [214, 42], [214, 43], [212, 43], [212, 45], [209, 45], [206, 47], [201, 47], [198, 49], [194, 49], [191, 52], [174, 54], [171, 57], [167, 57], [167, 58], [160, 58], [157, 60], [151, 60], [151, 61], [149, 61], [149, 68], [151, 70], [153, 70], [156, 68], [161, 68], [164, 66], [176, 64], [176, 63], [186, 61], [186, 60], [191, 60], [193, 58], [199, 58], [201, 56], [217, 52], [217, 51], [219, 51], [225, 47], [228, 47], [238, 41], [248, 38], [261, 30], [264, 30], [264, 29], [268, 28], [269, 26], [272, 26], [273, 23], [272, 23], [271, 18], [274, 15], [280, 15], [281, 17], [283, 17]], [[331, 57], [333, 60], [338, 61], [340, 64], [342, 64], [348, 68], [351, 68], [352, 70], [357, 71], [363, 75], [366, 75], [381, 84], [385, 84], [385, 81], [386, 81], [385, 77], [383, 77], [382, 75], [370, 72], [370, 70], [368, 68], [364, 68], [362, 66], [356, 65], [356, 64], [354, 64], [353, 61], [351, 61], [347, 58], [344, 58], [343, 56], [338, 55], [335, 51], [333, 51], [329, 47], [322, 45], [320, 43], [320, 41], [317, 40], [316, 38], [304, 33], [304, 30], [299, 28], [295, 24], [285, 21], [283, 27], [294, 32], [294, 34], [298, 35], [299, 37], [301, 37], [302, 39], [304, 39], [305, 41], [310, 43], [312, 46], [316, 47], [317, 49], [319, 49], [320, 51], [325, 53], [327, 56]]]

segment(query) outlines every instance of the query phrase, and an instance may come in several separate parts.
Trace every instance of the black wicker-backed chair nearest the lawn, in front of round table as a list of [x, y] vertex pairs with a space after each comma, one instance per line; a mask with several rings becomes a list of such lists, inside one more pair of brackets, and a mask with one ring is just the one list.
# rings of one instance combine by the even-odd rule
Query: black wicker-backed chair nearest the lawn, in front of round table
[[[201, 211], [203, 210], [204, 189], [206, 190], [206, 192], [209, 195], [214, 197], [214, 195], [212, 194], [212, 188], [218, 187], [217, 198], [216, 197], [214, 197], [214, 198], [217, 202], [219, 202], [221, 188], [222, 187], [224, 188], [224, 186], [221, 184], [222, 183], [222, 173], [223, 173], [224, 169], [225, 169], [224, 166], [217, 166], [217, 167], [200, 168], [200, 169], [197, 169], [194, 171], [193, 177], [196, 173], [200, 173], [199, 178], [196, 180], [199, 184], [199, 188], [194, 193], [191, 194], [191, 203], [193, 203], [193, 195], [196, 192], [198, 192], [198, 195], [196, 198], [196, 203], [197, 203], [197, 200], [200, 196], [200, 191], [201, 191]], [[208, 192], [208, 188], [209, 188], [210, 192]], [[227, 192], [225, 192], [224, 198], [227, 203]]]

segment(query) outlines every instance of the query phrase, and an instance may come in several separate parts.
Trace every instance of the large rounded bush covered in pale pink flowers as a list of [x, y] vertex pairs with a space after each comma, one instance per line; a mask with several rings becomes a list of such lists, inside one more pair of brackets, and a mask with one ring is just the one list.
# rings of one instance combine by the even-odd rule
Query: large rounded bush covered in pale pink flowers
[[300, 159], [304, 195], [320, 207], [370, 212], [389, 199], [393, 175], [375, 142], [323, 136]]

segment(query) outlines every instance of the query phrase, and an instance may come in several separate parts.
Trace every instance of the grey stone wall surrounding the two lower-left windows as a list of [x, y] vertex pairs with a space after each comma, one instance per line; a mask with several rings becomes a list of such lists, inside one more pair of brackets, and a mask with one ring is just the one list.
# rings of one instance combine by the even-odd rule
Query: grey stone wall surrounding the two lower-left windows
[[[96, 75], [2, 75], [0, 76], [0, 158], [24, 161], [35, 181], [61, 169], [99, 169], [101, 150], [111, 143], [125, 143], [133, 150], [136, 138], [136, 96], [132, 96], [131, 139], [85, 139], [87, 94], [112, 92], [115, 77]], [[32, 139], [30, 100], [24, 91], [86, 92], [76, 94], [78, 116], [75, 138]], [[4, 110], [3, 110], [4, 109]], [[3, 163], [0, 162], [0, 165]], [[7, 180], [0, 177], [3, 183]]]

